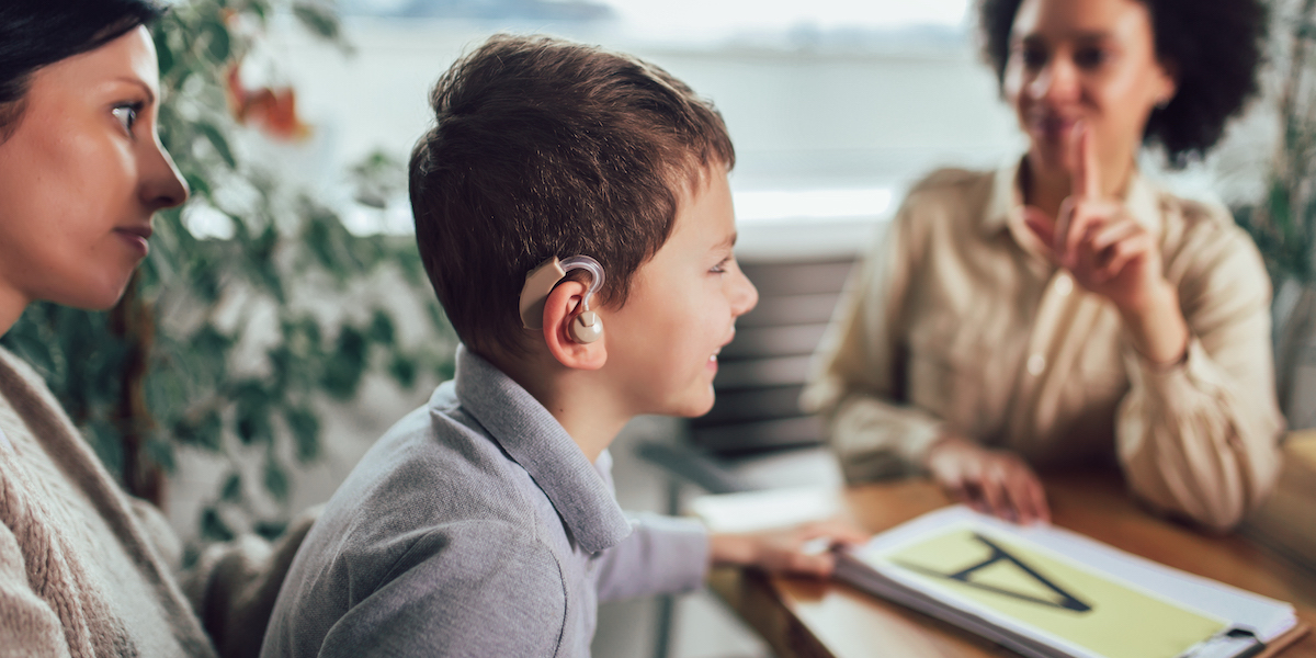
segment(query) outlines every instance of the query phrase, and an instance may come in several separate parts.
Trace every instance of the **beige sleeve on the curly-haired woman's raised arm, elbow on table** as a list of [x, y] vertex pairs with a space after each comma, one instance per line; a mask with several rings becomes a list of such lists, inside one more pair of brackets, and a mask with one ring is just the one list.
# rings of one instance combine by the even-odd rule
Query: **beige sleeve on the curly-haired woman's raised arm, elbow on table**
[[1274, 484], [1284, 422], [1261, 257], [1233, 226], [1198, 233], [1167, 263], [1191, 336], [1187, 355], [1161, 368], [1125, 347], [1132, 388], [1119, 408], [1116, 443], [1138, 496], [1225, 530]]

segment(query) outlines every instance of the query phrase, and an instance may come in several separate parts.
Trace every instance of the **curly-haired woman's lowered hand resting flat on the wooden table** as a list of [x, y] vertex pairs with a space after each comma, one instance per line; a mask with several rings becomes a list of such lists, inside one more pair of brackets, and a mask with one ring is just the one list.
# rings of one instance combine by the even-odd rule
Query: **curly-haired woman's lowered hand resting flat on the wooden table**
[[950, 497], [1017, 524], [1050, 522], [1046, 491], [1017, 454], [948, 436], [928, 450], [928, 470]]

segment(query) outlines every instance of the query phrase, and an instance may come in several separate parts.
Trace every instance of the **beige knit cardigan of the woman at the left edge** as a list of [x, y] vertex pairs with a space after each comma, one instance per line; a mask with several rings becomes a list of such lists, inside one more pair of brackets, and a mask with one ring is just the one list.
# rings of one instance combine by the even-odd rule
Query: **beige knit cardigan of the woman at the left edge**
[[0, 350], [0, 657], [213, 657], [178, 542], [130, 499], [45, 382]]

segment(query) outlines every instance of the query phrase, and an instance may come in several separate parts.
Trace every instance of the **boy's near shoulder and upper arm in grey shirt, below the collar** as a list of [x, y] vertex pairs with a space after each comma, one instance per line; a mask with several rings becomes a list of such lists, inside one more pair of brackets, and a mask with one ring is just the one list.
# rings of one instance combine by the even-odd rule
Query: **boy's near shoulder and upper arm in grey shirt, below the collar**
[[[383, 632], [345, 624], [368, 613], [405, 621], [407, 638], [395, 644], [553, 655], [571, 549], [551, 503], [536, 491], [443, 384], [366, 453], [325, 504], [284, 583], [267, 644], [278, 655], [315, 655], [330, 633]], [[429, 612], [413, 619], [418, 611]], [[482, 617], [490, 611], [536, 619], [513, 620], [521, 628], [509, 629]], [[334, 640], [376, 646], [382, 638]]]

